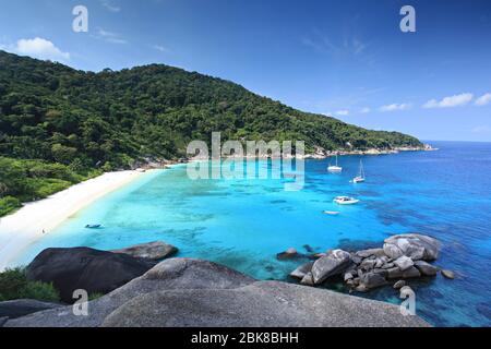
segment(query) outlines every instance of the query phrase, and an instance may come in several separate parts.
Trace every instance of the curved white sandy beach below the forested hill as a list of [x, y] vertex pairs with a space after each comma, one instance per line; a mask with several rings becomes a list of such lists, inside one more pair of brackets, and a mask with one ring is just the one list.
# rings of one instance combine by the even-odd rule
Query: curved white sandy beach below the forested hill
[[28, 203], [16, 213], [0, 218], [0, 270], [40, 239], [43, 230], [49, 233], [80, 209], [142, 174], [139, 171], [104, 173], [45, 200]]

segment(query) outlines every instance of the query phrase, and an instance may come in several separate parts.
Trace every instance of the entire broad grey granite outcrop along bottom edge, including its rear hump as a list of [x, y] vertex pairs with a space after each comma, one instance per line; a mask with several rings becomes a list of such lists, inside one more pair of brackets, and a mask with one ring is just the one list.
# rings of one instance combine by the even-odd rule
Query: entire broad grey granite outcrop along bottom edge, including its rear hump
[[31, 326], [428, 326], [398, 306], [280, 281], [255, 281], [224, 266], [170, 258], [88, 303], [88, 316], [71, 306], [9, 321]]

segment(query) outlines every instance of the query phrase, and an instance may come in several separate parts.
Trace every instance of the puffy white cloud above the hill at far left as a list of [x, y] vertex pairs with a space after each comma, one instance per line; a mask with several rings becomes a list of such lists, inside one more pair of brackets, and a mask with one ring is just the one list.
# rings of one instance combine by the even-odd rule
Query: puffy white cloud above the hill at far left
[[11, 46], [9, 50], [14, 53], [51, 61], [70, 60], [69, 52], [63, 52], [50, 40], [40, 37], [35, 37], [34, 39], [20, 39], [16, 45]]

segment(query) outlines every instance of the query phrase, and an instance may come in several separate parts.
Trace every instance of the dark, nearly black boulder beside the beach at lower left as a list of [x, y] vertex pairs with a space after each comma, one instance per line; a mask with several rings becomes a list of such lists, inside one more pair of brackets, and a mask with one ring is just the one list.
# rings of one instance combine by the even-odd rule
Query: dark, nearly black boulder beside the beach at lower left
[[52, 282], [71, 303], [73, 291], [107, 293], [143, 275], [155, 263], [89, 248], [47, 249], [27, 266], [31, 280]]

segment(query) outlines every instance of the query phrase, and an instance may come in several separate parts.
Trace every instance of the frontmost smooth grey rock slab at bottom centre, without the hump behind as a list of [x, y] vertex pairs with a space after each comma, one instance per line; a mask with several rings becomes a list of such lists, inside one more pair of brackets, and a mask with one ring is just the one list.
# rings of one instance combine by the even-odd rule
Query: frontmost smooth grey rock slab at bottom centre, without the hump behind
[[424, 326], [397, 306], [279, 281], [229, 290], [157, 291], [110, 314], [106, 327]]

